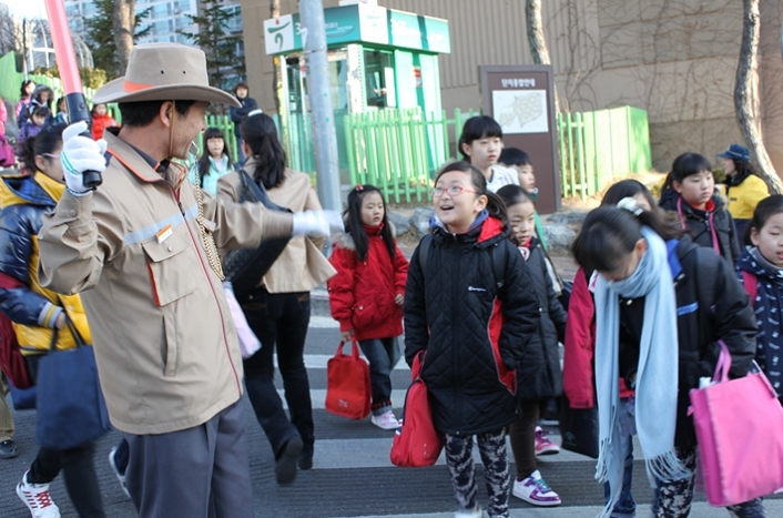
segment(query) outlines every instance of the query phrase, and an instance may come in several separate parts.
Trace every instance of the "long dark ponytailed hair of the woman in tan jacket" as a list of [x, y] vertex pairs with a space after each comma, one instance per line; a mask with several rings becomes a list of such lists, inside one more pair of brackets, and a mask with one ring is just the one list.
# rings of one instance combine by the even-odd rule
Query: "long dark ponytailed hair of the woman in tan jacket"
[[[238, 87], [237, 87], [238, 88]], [[242, 123], [242, 140], [247, 142], [257, 165], [253, 179], [274, 189], [285, 179], [285, 150], [277, 140], [277, 128], [272, 118], [256, 113]]]

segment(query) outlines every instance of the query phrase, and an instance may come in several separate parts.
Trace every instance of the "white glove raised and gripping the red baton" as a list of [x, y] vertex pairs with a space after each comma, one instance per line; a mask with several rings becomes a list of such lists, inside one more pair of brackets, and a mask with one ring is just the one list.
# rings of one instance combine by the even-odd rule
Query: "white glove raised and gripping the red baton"
[[87, 122], [75, 122], [62, 132], [62, 152], [60, 159], [65, 173], [65, 184], [74, 196], [83, 196], [91, 189], [84, 186], [83, 174], [85, 171], [102, 173], [106, 169], [106, 141], [82, 136], [87, 131]]

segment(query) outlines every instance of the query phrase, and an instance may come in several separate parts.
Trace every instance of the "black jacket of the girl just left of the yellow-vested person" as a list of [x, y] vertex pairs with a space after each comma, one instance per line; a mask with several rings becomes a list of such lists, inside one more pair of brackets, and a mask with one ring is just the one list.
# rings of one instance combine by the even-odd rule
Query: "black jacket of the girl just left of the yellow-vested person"
[[[710, 227], [709, 212], [693, 209], [684, 200], [681, 211], [678, 211], [678, 199], [680, 195], [674, 190], [664, 191], [661, 194], [660, 206], [669, 213], [672, 221], [680, 226], [684, 221], [688, 232], [693, 242], [699, 246], [712, 248], [712, 232]], [[715, 226], [721, 255], [733, 265], [740, 258], [740, 243], [736, 238], [734, 220], [729, 214], [723, 199], [718, 195], [712, 196], [712, 223]]]

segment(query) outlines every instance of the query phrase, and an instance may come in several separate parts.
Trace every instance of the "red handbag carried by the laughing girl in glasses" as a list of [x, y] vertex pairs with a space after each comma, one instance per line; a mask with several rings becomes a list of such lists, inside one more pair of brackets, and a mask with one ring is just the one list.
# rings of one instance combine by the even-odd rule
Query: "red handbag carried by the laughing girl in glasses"
[[433, 466], [444, 449], [444, 438], [433, 425], [433, 410], [427, 397], [427, 386], [421, 379], [424, 351], [414, 358], [410, 375], [414, 382], [405, 395], [401, 426], [392, 443], [392, 464], [401, 468]]

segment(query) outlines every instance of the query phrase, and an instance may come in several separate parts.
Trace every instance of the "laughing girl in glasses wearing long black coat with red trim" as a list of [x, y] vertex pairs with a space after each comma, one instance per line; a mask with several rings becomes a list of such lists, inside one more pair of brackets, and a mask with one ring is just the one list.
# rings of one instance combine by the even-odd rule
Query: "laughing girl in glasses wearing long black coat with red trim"
[[481, 517], [474, 436], [485, 467], [490, 517], [507, 517], [506, 433], [517, 419], [515, 369], [538, 329], [539, 304], [525, 260], [508, 240], [502, 201], [481, 172], [448, 164], [431, 191], [431, 236], [414, 252], [405, 294], [405, 359], [424, 351], [435, 429], [459, 510]]

